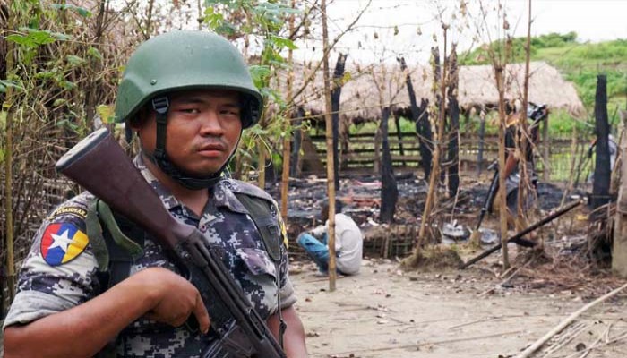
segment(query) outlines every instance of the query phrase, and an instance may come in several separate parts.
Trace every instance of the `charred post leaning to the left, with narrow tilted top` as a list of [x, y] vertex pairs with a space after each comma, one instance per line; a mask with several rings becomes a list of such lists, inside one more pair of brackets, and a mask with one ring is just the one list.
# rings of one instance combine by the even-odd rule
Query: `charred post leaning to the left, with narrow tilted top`
[[[408, 71], [408, 66], [405, 63], [405, 58], [399, 59], [401, 71]], [[431, 175], [431, 142], [433, 140], [433, 134], [431, 132], [431, 125], [429, 124], [429, 114], [427, 113], [428, 102], [422, 99], [420, 107], [418, 107], [416, 100], [416, 92], [414, 92], [414, 85], [411, 83], [411, 76], [409, 72], [405, 76], [405, 83], [408, 88], [409, 104], [411, 107], [411, 121], [416, 123], [416, 132], [418, 135], [418, 143], [420, 144], [420, 162], [425, 170], [425, 180], [429, 180]]]

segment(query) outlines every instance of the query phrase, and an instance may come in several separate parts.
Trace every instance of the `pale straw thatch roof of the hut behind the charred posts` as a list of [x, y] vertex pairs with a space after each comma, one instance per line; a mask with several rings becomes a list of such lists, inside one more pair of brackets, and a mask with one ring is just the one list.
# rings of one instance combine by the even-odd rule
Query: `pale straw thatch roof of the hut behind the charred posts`
[[[314, 66], [308, 69], [296, 68], [295, 88], [305, 81]], [[376, 119], [381, 115], [381, 108], [391, 106], [395, 110], [410, 106], [405, 83], [406, 73], [411, 76], [417, 101], [421, 98], [433, 98], [432, 69], [426, 66], [410, 67], [407, 72], [400, 71], [399, 65], [371, 65], [360, 68], [347, 64], [340, 98], [340, 116], [344, 118]], [[525, 73], [524, 64], [509, 64], [506, 67], [506, 98], [516, 101], [522, 98]], [[585, 109], [577, 91], [569, 81], [564, 81], [560, 73], [550, 64], [533, 62], [530, 64], [529, 101], [545, 104], [550, 109], [563, 109], [575, 117], [585, 115]], [[498, 103], [498, 93], [494, 82], [491, 65], [461, 66], [458, 100], [462, 111], [472, 108], [494, 107]], [[296, 98], [296, 103], [310, 113], [323, 113], [322, 72], [318, 71], [314, 81]]]

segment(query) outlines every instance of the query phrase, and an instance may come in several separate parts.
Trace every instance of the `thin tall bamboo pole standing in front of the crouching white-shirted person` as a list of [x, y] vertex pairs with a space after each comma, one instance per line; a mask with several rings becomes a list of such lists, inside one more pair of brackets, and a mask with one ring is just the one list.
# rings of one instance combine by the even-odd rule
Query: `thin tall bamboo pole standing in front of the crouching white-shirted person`
[[327, 2], [322, 0], [322, 74], [324, 77], [324, 122], [327, 137], [327, 188], [329, 192], [329, 291], [335, 291], [335, 178], [333, 173], [333, 120], [331, 118], [331, 79], [329, 78], [329, 30], [327, 29]]

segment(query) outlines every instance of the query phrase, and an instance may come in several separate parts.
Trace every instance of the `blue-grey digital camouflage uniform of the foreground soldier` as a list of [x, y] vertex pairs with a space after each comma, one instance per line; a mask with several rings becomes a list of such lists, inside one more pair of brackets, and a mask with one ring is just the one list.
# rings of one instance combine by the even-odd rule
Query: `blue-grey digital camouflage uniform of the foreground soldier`
[[[141, 156], [135, 158], [134, 163], [158, 192], [170, 214], [185, 224], [197, 227], [207, 243], [219, 251], [262, 319], [275, 313], [278, 308], [276, 266], [265, 251], [253, 219], [247, 215], [248, 211], [234, 193], [243, 192], [266, 200], [271, 200], [271, 197], [253, 185], [224, 179], [211, 189], [210, 200], [202, 216], [198, 217], [167, 192], [143, 165]], [[4, 327], [29, 323], [70, 309], [102, 292], [104, 284], [99, 282], [97, 275], [98, 260], [84, 234], [87, 232], [85, 217], [92, 200], [94, 197], [89, 192], [83, 192], [66, 201], [44, 221], [21, 268], [18, 293]], [[283, 227], [276, 210], [274, 213], [279, 226]], [[65, 249], [59, 246], [65, 246]], [[150, 267], [176, 271], [150, 236], [145, 238], [143, 249], [143, 256], [133, 262], [131, 275]], [[296, 297], [288, 279], [286, 253], [279, 270], [280, 302], [282, 308], [287, 308], [296, 302]], [[125, 357], [195, 357], [207, 345], [207, 339], [190, 333], [186, 328], [173, 328], [140, 319], [120, 333], [116, 350], [118, 356]]]

